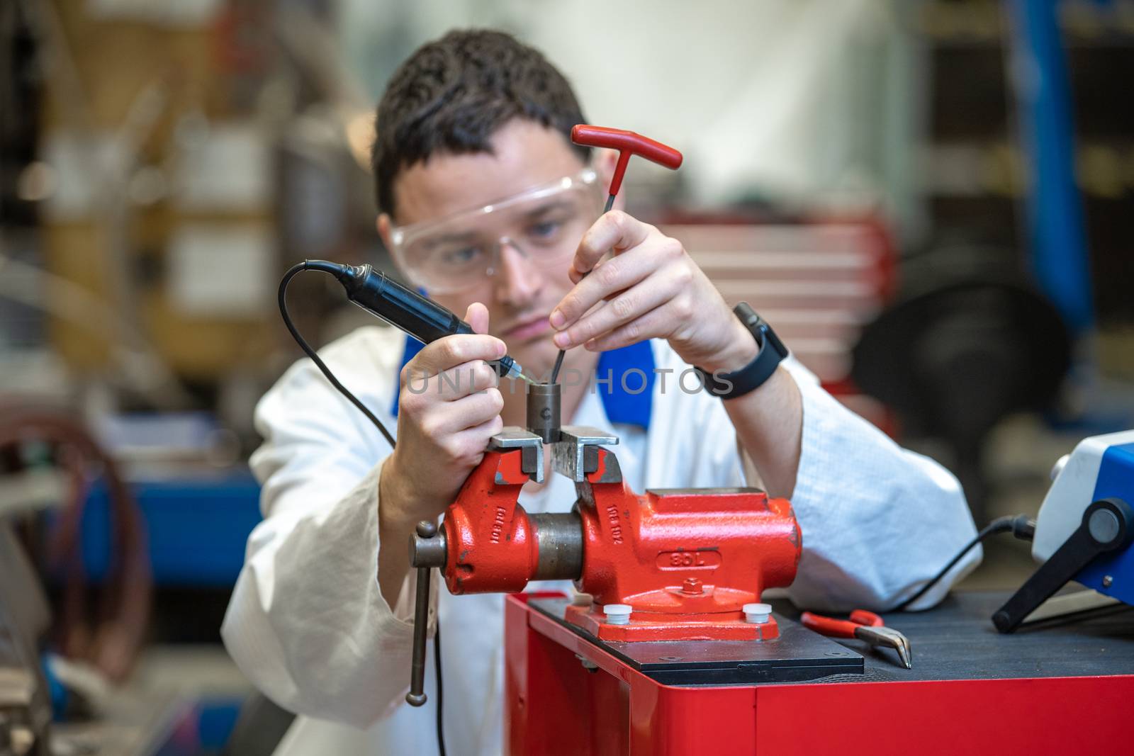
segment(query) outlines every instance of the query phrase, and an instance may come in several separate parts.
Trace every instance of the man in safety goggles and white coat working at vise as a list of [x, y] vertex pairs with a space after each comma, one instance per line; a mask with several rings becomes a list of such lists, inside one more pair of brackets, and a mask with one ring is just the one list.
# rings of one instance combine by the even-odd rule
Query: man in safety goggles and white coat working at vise
[[[379, 104], [379, 232], [406, 277], [476, 334], [415, 350], [373, 326], [323, 350], [339, 380], [396, 422], [392, 452], [308, 360], [257, 407], [265, 441], [252, 465], [265, 519], [248, 541], [226, 644], [285, 707], [369, 728], [303, 720], [288, 753], [432, 750], [435, 697], [421, 710], [403, 703], [407, 535], [441, 515], [494, 433], [524, 425], [524, 392], [494, 385], [484, 365], [506, 349], [543, 375], [567, 347], [565, 375], [595, 376], [565, 381], [562, 421], [617, 433], [634, 490], [747, 479], [790, 498], [804, 543], [789, 591], [798, 604], [892, 606], [974, 534], [951, 475], [838, 405], [795, 360], [726, 400], [688, 391], [688, 379], [678, 385], [689, 365], [741, 371], [760, 348], [679, 243], [618, 210], [601, 214], [616, 155], [572, 145], [577, 122], [562, 76], [494, 32], [423, 46]], [[632, 369], [649, 376], [648, 391]], [[574, 489], [551, 476], [521, 502], [566, 511]], [[500, 750], [502, 604], [435, 597], [450, 753]]]

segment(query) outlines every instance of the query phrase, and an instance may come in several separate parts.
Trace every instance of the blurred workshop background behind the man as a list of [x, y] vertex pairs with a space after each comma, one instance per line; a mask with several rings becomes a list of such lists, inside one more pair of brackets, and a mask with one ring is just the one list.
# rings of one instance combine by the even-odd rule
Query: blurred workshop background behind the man
[[[252, 413], [299, 356], [276, 287], [388, 266], [374, 104], [471, 25], [682, 150], [629, 172], [631, 212], [956, 472], [978, 525], [1134, 427], [1132, 0], [5, 0], [0, 668], [28, 663], [20, 613], [46, 628], [71, 753], [222, 749]], [[372, 322], [323, 278], [291, 287], [319, 345]], [[967, 585], [1032, 569], [992, 541]]]

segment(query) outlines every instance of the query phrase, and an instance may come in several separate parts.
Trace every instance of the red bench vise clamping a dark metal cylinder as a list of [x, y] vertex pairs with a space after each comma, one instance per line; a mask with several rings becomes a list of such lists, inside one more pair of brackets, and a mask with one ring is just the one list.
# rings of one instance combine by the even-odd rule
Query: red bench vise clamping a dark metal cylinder
[[[568, 606], [565, 620], [602, 640], [778, 637], [775, 617], [751, 605], [765, 588], [795, 579], [802, 542], [787, 500], [758, 489], [637, 494], [607, 449], [617, 436], [559, 426], [557, 389], [532, 387], [527, 400], [535, 427], [506, 427], [493, 436], [441, 527], [422, 523], [411, 538], [417, 604], [409, 703], [424, 703], [434, 567], [452, 594], [515, 593], [532, 580], [574, 580], [592, 602]], [[545, 444], [553, 472], [575, 483], [569, 512], [528, 513], [519, 504], [524, 484], [544, 479]]]

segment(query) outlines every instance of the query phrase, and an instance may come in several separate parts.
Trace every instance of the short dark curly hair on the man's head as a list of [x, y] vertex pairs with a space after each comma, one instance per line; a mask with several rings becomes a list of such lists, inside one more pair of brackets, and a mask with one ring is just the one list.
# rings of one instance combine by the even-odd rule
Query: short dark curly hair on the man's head
[[449, 32], [414, 52], [395, 71], [375, 118], [371, 151], [380, 210], [393, 213], [398, 171], [435, 153], [492, 152], [489, 139], [514, 118], [561, 133], [570, 144], [584, 124], [570, 84], [538, 50], [489, 29]]

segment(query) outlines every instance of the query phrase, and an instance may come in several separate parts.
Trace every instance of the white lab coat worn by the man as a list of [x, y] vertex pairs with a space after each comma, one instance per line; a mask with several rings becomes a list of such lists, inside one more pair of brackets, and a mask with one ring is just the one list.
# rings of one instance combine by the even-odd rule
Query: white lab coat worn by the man
[[[391, 432], [403, 340], [393, 329], [363, 328], [321, 352]], [[682, 390], [676, 380], [687, 366], [666, 342], [655, 341], [652, 349], [657, 367], [674, 373], [654, 383], [649, 430], [612, 425], [598, 393], [587, 393], [565, 424], [618, 434], [613, 451], [635, 491], [743, 485], [742, 458], [722, 404], [705, 392]], [[789, 358], [785, 365], [803, 397], [792, 498], [803, 558], [788, 595], [802, 606], [830, 611], [892, 606], [975, 534], [959, 485], [939, 465], [899, 448], [843, 407], [797, 362]], [[635, 379], [629, 383], [636, 385]], [[687, 380], [686, 387], [693, 385]], [[412, 577], [393, 608], [376, 580], [376, 482], [389, 445], [306, 359], [264, 396], [256, 425], [264, 444], [253, 455], [252, 468], [263, 483], [264, 520], [248, 537], [221, 631], [244, 673], [301, 714], [277, 753], [434, 753], [432, 653], [429, 703], [413, 708], [403, 700], [409, 682]], [[549, 478], [538, 494], [521, 496], [527, 511], [570, 509], [574, 485], [562, 476]], [[979, 561], [978, 549], [919, 606], [937, 603]], [[535, 587], [569, 591], [568, 583]], [[498, 754], [503, 596], [452, 596], [443, 588], [434, 595], [448, 753]]]

